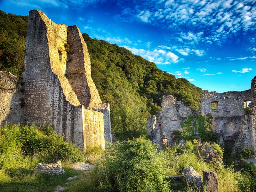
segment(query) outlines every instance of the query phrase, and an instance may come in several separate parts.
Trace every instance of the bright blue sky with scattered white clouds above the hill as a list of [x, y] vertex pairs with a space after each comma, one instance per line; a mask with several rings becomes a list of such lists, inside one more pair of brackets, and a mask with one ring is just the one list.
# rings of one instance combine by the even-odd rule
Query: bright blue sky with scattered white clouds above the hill
[[256, 76], [256, 0], [4, 0], [0, 9], [41, 10], [204, 90], [247, 90]]

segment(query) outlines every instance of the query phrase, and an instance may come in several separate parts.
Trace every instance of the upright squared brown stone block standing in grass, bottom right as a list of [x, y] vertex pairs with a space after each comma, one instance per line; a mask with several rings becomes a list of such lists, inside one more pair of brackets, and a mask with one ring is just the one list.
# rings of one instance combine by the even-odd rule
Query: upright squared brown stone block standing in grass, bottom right
[[207, 183], [207, 192], [219, 192], [219, 181], [215, 171], [203, 171], [203, 183]]

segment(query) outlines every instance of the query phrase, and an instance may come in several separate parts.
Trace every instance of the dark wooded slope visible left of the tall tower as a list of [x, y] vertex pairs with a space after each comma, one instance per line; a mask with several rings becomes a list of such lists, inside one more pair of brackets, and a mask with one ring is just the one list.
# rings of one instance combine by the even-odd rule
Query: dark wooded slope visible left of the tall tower
[[28, 16], [0, 10], [0, 70], [22, 76], [25, 59]]

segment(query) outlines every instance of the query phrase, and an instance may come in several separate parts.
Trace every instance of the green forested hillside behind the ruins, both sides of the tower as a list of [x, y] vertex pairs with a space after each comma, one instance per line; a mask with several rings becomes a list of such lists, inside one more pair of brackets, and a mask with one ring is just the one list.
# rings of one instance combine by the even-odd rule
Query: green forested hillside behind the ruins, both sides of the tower
[[[28, 16], [0, 11], [0, 70], [22, 76]], [[111, 126], [120, 139], [146, 132], [147, 118], [161, 110], [162, 96], [173, 95], [192, 109], [200, 108], [203, 90], [175, 78], [129, 50], [83, 34], [92, 79], [101, 100], [110, 103]], [[170, 66], [171, 68], [172, 66]]]

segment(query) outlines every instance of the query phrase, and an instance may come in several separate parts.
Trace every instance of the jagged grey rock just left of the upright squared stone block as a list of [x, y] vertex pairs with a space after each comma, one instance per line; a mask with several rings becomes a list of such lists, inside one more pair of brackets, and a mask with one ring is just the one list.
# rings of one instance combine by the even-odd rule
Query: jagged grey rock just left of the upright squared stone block
[[188, 183], [194, 183], [196, 187], [202, 189], [203, 182], [201, 181], [201, 176], [196, 172], [193, 167], [190, 165], [188, 168], [183, 169], [184, 178], [188, 181]]

